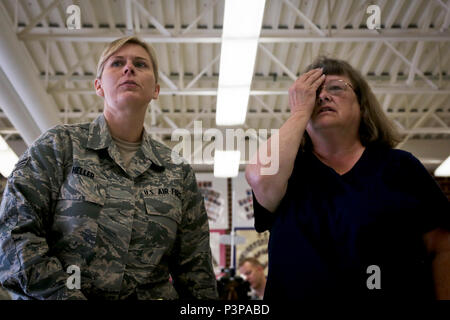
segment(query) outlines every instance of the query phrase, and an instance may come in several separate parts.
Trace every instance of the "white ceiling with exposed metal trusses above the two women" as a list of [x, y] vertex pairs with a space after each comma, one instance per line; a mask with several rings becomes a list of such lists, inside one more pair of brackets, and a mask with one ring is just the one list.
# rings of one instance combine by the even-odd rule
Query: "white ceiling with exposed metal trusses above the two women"
[[[80, 30], [66, 28], [71, 4], [81, 9]], [[371, 4], [381, 9], [379, 31], [366, 27]], [[0, 82], [3, 94], [17, 92], [0, 100], [0, 134], [16, 152], [37, 131], [102, 111], [97, 60], [107, 42], [132, 33], [159, 60], [161, 95], [146, 118], [153, 136], [173, 145], [176, 127], [215, 127], [224, 0], [2, 0], [0, 11]], [[267, 0], [243, 128], [279, 128], [287, 88], [326, 54], [367, 77], [403, 134], [399, 147], [435, 168], [450, 155], [449, 24], [450, 0]]]

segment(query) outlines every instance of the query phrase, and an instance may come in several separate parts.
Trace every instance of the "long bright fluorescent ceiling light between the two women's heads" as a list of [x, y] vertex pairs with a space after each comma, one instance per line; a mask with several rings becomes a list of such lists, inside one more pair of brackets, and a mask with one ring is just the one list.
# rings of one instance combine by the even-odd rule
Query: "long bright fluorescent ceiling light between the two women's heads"
[[225, 0], [216, 124], [245, 122], [265, 0]]

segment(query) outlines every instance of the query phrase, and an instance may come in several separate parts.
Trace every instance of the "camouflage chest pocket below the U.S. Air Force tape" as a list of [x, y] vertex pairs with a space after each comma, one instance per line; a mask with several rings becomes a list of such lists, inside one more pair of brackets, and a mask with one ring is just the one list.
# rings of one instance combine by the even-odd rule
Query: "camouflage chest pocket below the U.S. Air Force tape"
[[167, 247], [177, 234], [182, 219], [181, 200], [172, 195], [144, 198], [146, 209], [146, 238], [154, 247]]

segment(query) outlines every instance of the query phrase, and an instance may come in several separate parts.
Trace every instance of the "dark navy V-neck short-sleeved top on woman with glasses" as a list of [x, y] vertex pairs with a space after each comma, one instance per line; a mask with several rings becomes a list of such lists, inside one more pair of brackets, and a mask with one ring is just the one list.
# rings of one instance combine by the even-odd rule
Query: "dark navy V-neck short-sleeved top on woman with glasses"
[[369, 146], [339, 175], [300, 151], [276, 212], [253, 200], [256, 230], [270, 230], [264, 299], [434, 298], [422, 236], [450, 230], [450, 206], [412, 154]]

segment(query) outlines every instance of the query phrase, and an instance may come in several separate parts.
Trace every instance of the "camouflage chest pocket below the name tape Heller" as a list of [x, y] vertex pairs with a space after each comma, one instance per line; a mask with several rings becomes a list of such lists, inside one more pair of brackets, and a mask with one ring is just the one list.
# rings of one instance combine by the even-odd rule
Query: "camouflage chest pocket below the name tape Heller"
[[104, 188], [89, 177], [67, 177], [60, 189], [52, 228], [58, 239], [57, 250], [72, 251], [85, 258], [90, 255], [105, 195]]

